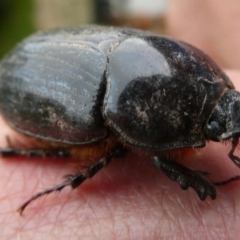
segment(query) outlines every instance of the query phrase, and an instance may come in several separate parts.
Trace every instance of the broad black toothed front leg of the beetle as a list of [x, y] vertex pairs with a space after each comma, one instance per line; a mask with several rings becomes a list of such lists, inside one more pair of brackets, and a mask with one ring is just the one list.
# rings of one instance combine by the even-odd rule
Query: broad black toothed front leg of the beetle
[[183, 190], [192, 187], [201, 200], [205, 200], [208, 195], [212, 199], [216, 198], [214, 185], [201, 173], [193, 171], [176, 161], [162, 157], [153, 157], [153, 162], [167, 177], [178, 182]]

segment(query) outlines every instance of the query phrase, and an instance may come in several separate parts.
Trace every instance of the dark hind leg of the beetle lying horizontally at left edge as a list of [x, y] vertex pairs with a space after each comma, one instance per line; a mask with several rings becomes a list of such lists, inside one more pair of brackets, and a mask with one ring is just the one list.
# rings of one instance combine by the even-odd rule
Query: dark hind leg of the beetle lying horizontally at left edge
[[67, 149], [19, 149], [19, 148], [2, 148], [0, 149], [0, 156], [6, 157], [56, 157], [67, 158], [70, 153]]

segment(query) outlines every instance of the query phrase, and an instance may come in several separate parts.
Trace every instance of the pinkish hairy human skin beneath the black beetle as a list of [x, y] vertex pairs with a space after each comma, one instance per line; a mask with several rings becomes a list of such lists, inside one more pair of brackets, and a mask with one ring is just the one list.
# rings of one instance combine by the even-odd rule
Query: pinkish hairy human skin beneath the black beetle
[[[228, 75], [240, 90], [240, 71]], [[6, 146], [6, 136], [21, 141], [3, 120], [0, 125], [0, 146]], [[240, 175], [227, 156], [230, 148], [230, 143], [210, 143], [185, 162], [221, 181]], [[0, 159], [0, 239], [240, 238], [240, 181], [217, 187], [216, 200], [201, 201], [194, 190], [183, 191], [164, 176], [150, 158], [133, 153], [73, 191], [34, 201], [19, 215], [17, 208], [27, 198], [76, 172], [73, 165], [62, 159]]]

